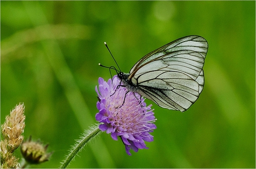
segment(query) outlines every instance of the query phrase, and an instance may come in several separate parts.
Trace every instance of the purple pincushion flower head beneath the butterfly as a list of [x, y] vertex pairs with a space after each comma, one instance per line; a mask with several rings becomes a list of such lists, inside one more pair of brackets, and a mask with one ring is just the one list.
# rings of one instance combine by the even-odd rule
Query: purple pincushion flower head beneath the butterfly
[[127, 93], [126, 87], [119, 86], [117, 75], [113, 77], [113, 83], [112, 79], [105, 82], [99, 77], [98, 84], [99, 92], [97, 86], [96, 92], [99, 112], [96, 120], [101, 123], [99, 129], [111, 133], [113, 140], [120, 136], [128, 155], [131, 155], [130, 149], [137, 152], [139, 148], [148, 148], [144, 141], [152, 142], [153, 136], [149, 132], [157, 128], [153, 124], [156, 119], [151, 110], [152, 105], [146, 106], [144, 98], [137, 93]]

